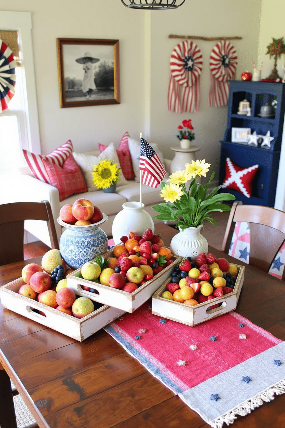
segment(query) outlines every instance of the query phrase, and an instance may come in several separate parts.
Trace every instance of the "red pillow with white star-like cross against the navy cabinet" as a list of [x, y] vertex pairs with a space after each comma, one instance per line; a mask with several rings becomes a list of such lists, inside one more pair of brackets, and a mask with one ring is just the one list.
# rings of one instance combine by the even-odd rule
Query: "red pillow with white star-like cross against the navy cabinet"
[[252, 182], [256, 175], [258, 165], [241, 168], [238, 165], [226, 158], [226, 177], [223, 180], [223, 188], [237, 190], [247, 198], [250, 198], [252, 193]]

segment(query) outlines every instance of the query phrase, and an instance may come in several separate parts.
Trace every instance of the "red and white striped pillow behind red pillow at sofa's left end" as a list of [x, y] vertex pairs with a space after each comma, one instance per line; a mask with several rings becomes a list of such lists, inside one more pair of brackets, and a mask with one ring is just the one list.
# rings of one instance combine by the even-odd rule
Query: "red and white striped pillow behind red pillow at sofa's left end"
[[53, 152], [49, 153], [46, 156], [35, 155], [34, 153], [28, 152], [27, 150], [23, 149], [26, 163], [28, 164], [29, 169], [31, 170], [35, 178], [38, 178], [38, 180], [44, 181], [48, 184], [52, 183], [50, 182], [50, 178], [44, 167], [43, 160], [48, 160], [50, 163], [62, 166], [68, 156], [72, 154], [72, 152], [73, 146], [71, 140], [68, 140], [65, 144], [53, 150]]

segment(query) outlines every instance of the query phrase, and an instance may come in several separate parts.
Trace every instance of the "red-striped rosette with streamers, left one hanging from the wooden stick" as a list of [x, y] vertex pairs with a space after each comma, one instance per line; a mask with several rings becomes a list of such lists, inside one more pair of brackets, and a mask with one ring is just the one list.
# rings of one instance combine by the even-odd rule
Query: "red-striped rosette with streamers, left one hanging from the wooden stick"
[[176, 113], [199, 111], [203, 56], [196, 43], [180, 42], [170, 56], [167, 106]]

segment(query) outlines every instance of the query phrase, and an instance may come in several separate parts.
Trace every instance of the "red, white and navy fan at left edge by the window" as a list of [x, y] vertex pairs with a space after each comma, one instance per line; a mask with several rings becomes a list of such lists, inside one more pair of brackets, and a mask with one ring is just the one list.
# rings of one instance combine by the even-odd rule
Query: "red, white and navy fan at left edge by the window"
[[0, 112], [8, 108], [9, 101], [15, 95], [15, 67], [13, 52], [0, 39]]

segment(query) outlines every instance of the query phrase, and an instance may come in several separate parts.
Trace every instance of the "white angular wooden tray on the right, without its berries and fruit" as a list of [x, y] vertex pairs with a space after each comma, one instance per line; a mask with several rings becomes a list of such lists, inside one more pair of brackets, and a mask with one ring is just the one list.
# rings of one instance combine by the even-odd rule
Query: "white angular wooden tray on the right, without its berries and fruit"
[[[171, 280], [171, 277], [169, 277], [153, 294], [153, 314], [194, 327], [204, 321], [233, 311], [237, 306], [241, 287], [244, 283], [244, 266], [235, 266], [239, 271], [232, 293], [225, 294], [223, 297], [216, 297], [204, 303], [199, 303], [196, 306], [184, 305], [183, 303], [161, 297], [162, 293], [166, 290], [166, 284]], [[209, 309], [217, 303], [221, 303], [221, 305], [217, 308]]]

